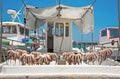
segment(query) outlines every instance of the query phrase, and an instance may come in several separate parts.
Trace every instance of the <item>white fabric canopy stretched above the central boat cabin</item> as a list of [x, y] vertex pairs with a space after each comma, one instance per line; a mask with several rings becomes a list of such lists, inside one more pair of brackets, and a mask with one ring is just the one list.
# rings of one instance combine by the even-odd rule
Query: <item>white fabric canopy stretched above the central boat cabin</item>
[[[28, 26], [30, 26], [31, 29], [38, 29], [45, 23], [45, 20], [57, 18], [57, 7], [58, 5], [49, 8], [37, 8], [26, 6], [25, 18]], [[90, 8], [90, 5], [84, 7], [70, 7], [61, 5], [61, 7], [62, 10], [60, 11], [60, 18], [67, 18], [73, 20], [73, 23], [84, 34], [93, 31], [93, 7]], [[90, 9], [88, 10], [88, 8]], [[85, 14], [87, 10], [88, 12]], [[85, 16], [83, 17], [84, 14]]]

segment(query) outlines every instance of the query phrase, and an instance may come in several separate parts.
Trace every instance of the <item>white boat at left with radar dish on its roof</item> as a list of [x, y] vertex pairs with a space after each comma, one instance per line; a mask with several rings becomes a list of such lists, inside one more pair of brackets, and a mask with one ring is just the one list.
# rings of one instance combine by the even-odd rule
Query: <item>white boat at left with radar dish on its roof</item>
[[[2, 44], [3, 46], [25, 46], [25, 42], [29, 41], [29, 28], [20, 22], [15, 22], [18, 14], [15, 10], [8, 10], [8, 14], [12, 16], [12, 21], [2, 22]], [[18, 11], [19, 12], [19, 11]], [[19, 18], [19, 17], [18, 17]]]

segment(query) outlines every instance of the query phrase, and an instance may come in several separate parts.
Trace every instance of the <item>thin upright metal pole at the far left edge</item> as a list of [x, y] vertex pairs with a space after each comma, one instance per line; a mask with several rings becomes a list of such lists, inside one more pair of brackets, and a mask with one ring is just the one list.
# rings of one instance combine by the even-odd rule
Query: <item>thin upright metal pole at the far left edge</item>
[[0, 62], [2, 61], [2, 0], [0, 0]]

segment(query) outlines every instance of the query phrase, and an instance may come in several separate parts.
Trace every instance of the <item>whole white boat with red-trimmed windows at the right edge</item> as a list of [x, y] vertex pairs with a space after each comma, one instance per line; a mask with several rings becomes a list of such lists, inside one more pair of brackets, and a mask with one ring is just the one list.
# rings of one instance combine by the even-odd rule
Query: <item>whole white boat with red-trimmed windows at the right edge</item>
[[100, 30], [100, 41], [99, 45], [101, 48], [112, 48], [113, 57], [120, 56], [119, 53], [119, 28], [118, 27], [107, 27]]

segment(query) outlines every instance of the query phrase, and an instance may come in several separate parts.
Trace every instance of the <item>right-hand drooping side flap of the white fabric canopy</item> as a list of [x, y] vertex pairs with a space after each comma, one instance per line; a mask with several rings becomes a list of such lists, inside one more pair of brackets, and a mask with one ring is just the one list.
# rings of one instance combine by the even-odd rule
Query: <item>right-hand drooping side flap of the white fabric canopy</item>
[[93, 19], [93, 10], [89, 9], [86, 15], [81, 18], [81, 20], [75, 20], [74, 24], [78, 27], [78, 29], [83, 33], [87, 34], [94, 30], [94, 19]]

